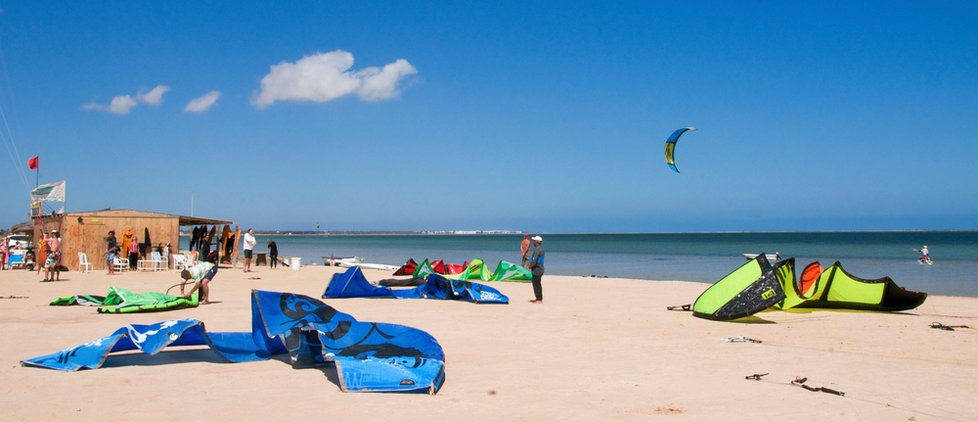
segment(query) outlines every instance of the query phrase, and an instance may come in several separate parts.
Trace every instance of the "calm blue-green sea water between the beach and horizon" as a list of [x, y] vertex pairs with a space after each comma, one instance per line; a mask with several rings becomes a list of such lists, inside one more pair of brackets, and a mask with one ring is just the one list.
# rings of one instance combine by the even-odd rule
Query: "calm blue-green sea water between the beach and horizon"
[[[784, 232], [784, 233], [602, 233], [542, 234], [547, 274], [685, 280], [712, 283], [746, 262], [744, 253], [779, 253], [795, 258], [796, 271], [809, 262], [827, 267], [841, 261], [864, 279], [891, 277], [902, 287], [930, 294], [978, 296], [978, 232]], [[303, 264], [330, 255], [365, 262], [403, 264], [408, 258], [461, 264], [482, 258], [520, 262], [520, 235], [328, 235], [256, 236], [256, 252], [267, 241], [279, 256]], [[183, 248], [187, 239], [183, 238]], [[933, 265], [918, 263], [930, 249]]]

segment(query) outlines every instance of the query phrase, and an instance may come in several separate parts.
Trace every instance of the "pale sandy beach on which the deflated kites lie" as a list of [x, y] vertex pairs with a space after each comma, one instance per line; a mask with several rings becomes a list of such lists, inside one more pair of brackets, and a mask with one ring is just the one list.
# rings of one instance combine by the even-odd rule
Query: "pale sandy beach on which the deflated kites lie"
[[[72, 271], [40, 283], [34, 272], [0, 272], [3, 419], [978, 419], [978, 330], [930, 328], [978, 327], [978, 299], [946, 296], [905, 313], [769, 311], [738, 322], [667, 311], [707, 287], [679, 281], [545, 276], [542, 305], [528, 302], [528, 283], [492, 283], [510, 297], [508, 305], [327, 301], [361, 321], [409, 325], [437, 338], [447, 377], [434, 396], [343, 393], [333, 369], [292, 369], [287, 356], [228, 364], [208, 350], [185, 349], [110, 357], [101, 369], [75, 373], [19, 363], [129, 323], [196, 318], [209, 331], [248, 331], [251, 289], [318, 298], [340, 270], [222, 269], [212, 284], [217, 303], [129, 315], [48, 303], [104, 295], [109, 286], [163, 291], [179, 281], [177, 273]], [[734, 336], [762, 343], [722, 341]], [[759, 373], [769, 375], [745, 379]], [[791, 385], [796, 376], [845, 396]]]

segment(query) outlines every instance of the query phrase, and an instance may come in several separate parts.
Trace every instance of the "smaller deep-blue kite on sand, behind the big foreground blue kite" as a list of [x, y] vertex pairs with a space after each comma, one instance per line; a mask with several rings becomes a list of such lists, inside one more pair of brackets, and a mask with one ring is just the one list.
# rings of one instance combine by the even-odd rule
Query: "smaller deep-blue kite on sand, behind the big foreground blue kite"
[[429, 274], [425, 283], [413, 289], [391, 289], [367, 281], [360, 267], [333, 274], [324, 299], [350, 297], [394, 297], [398, 299], [454, 299], [474, 303], [509, 303], [509, 298], [492, 287], [466, 280], [451, 280]]

